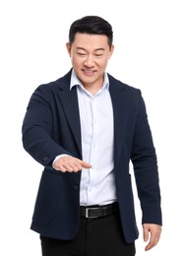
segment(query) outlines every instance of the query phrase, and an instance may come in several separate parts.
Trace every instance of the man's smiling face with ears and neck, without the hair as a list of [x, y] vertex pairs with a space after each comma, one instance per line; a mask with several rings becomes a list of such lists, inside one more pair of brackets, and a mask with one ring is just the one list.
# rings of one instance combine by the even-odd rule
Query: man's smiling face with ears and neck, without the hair
[[107, 36], [102, 34], [76, 33], [72, 44], [66, 44], [72, 66], [83, 86], [100, 88], [108, 60], [113, 52]]

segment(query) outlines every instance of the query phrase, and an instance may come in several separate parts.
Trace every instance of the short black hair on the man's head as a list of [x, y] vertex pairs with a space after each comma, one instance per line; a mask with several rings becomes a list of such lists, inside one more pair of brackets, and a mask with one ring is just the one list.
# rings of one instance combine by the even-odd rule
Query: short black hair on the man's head
[[111, 25], [98, 16], [85, 16], [76, 20], [69, 30], [69, 42], [73, 43], [77, 32], [90, 34], [104, 34], [108, 38], [109, 46], [112, 45], [113, 32]]

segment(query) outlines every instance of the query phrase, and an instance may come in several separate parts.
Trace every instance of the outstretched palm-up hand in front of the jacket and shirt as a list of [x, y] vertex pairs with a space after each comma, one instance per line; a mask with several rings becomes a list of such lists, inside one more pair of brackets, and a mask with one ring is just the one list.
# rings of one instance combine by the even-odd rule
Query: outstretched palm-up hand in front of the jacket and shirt
[[91, 168], [92, 164], [85, 160], [79, 160], [70, 156], [63, 156], [53, 162], [53, 168], [62, 172], [77, 172], [83, 168]]

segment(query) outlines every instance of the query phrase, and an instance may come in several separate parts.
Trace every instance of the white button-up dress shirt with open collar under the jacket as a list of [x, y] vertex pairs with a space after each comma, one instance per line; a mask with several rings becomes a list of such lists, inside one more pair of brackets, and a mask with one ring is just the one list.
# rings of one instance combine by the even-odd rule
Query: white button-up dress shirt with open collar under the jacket
[[80, 204], [106, 205], [116, 201], [113, 161], [113, 109], [109, 81], [104, 75], [102, 88], [91, 95], [74, 70], [70, 89], [77, 86], [81, 119], [83, 160], [92, 164], [82, 170]]

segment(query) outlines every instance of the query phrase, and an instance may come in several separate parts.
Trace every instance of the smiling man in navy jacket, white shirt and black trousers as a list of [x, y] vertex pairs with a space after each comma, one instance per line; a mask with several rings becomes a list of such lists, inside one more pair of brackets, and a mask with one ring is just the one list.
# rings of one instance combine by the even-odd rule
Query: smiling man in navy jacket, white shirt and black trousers
[[75, 21], [72, 69], [39, 86], [23, 123], [23, 143], [44, 166], [31, 229], [43, 256], [134, 256], [130, 160], [142, 207], [146, 250], [161, 232], [157, 162], [140, 90], [107, 74], [112, 28], [97, 16]]

